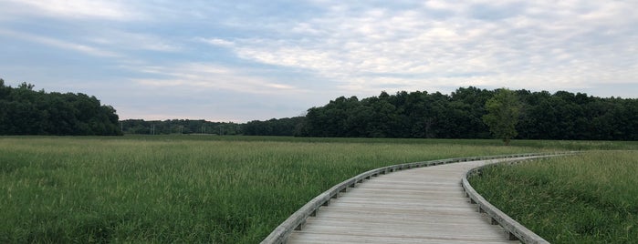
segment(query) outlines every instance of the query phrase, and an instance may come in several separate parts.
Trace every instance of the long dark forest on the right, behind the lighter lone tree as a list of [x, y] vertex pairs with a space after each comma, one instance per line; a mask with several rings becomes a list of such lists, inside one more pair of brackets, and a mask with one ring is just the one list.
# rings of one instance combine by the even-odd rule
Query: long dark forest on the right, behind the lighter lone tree
[[[250, 135], [298, 137], [489, 138], [486, 101], [497, 90], [461, 87], [451, 95], [398, 92], [338, 97], [305, 117], [251, 121]], [[638, 99], [559, 91], [514, 91], [520, 104], [516, 138], [637, 140]]]

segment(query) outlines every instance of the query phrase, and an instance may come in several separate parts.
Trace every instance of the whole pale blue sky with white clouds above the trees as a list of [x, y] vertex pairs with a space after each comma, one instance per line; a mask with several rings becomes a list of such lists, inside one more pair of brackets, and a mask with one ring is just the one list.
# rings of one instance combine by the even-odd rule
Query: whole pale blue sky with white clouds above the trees
[[638, 1], [0, 0], [0, 77], [246, 122], [459, 86], [638, 97]]

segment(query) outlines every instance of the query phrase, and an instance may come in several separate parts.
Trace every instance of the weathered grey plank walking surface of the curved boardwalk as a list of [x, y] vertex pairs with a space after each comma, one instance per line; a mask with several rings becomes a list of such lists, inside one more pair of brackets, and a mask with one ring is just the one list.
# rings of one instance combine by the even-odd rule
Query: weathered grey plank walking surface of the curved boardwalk
[[521, 158], [413, 168], [365, 181], [321, 207], [288, 243], [518, 243], [465, 198], [469, 169]]

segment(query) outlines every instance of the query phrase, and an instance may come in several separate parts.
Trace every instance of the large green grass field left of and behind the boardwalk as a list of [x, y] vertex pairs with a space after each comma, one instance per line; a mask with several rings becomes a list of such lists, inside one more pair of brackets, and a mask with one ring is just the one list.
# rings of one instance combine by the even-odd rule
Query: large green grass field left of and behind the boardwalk
[[0, 137], [0, 243], [256, 243], [340, 181], [436, 158], [619, 142]]

